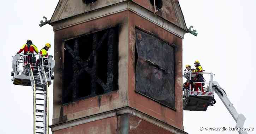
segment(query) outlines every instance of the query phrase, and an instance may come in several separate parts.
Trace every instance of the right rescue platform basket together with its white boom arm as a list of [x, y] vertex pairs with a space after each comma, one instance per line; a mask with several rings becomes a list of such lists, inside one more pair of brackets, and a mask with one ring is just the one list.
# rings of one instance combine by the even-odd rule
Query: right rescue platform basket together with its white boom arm
[[[209, 76], [209, 82], [199, 82], [196, 81], [196, 75]], [[226, 92], [222, 89], [218, 82], [213, 81], [213, 73], [208, 72], [192, 72], [187, 71], [183, 75], [187, 82], [189, 82], [189, 87], [183, 88], [183, 110], [189, 111], [206, 111], [208, 106], [213, 106], [216, 101], [214, 99], [214, 92], [217, 94], [229, 111], [233, 119], [236, 121], [236, 128], [239, 134], [247, 134], [244, 129], [245, 116], [243, 114], [238, 114], [236, 108], [233, 106], [231, 101], [228, 99]], [[205, 80], [205, 79], [204, 79]], [[200, 85], [200, 91], [193, 91], [195, 84]], [[204, 87], [204, 86], [207, 87]], [[194, 89], [195, 90], [195, 89]]]

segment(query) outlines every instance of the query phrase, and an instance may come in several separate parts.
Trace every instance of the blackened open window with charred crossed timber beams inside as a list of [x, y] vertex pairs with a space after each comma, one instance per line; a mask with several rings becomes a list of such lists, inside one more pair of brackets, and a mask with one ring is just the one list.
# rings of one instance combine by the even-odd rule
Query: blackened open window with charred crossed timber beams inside
[[65, 41], [62, 102], [118, 89], [117, 28]]

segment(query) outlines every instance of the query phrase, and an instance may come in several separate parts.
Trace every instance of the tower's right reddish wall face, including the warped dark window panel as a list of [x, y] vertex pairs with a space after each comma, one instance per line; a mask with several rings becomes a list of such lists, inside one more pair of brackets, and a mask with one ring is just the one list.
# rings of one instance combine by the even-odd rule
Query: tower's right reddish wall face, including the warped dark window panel
[[182, 39], [133, 12], [129, 17], [129, 106], [183, 129]]

